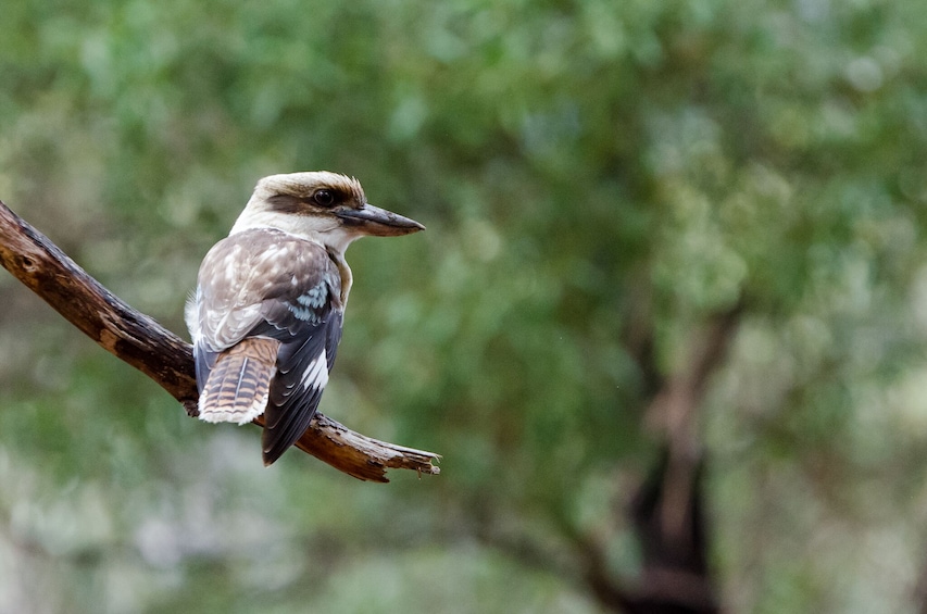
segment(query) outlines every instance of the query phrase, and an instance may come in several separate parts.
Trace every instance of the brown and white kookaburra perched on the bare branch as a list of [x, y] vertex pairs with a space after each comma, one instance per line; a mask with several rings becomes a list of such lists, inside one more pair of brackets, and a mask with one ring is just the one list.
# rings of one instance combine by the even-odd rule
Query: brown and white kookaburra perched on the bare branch
[[335, 363], [352, 280], [345, 250], [366, 235], [424, 228], [368, 204], [345, 175], [258, 181], [187, 303], [200, 419], [245, 424], [264, 414], [264, 464], [279, 459], [309, 426]]

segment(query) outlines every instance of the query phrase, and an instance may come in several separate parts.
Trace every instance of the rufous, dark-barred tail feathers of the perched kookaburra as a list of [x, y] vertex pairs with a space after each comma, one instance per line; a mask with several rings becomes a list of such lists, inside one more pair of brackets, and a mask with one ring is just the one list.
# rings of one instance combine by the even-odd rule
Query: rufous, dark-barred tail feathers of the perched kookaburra
[[263, 414], [279, 347], [254, 337], [222, 352], [200, 394], [200, 419], [245, 424]]

